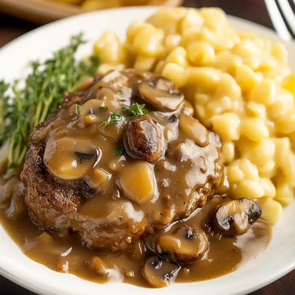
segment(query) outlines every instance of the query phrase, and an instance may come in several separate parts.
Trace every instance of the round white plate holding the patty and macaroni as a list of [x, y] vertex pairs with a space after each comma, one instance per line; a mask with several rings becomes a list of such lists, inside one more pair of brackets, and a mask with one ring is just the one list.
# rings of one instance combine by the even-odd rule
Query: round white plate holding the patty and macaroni
[[[88, 45], [78, 53], [91, 52], [93, 41], [104, 30], [114, 30], [123, 39], [128, 24], [135, 18], [145, 19], [155, 7], [132, 7], [93, 12], [53, 22], [4, 46], [0, 50], [0, 79], [11, 81], [22, 75], [27, 61], [45, 59], [53, 50], [66, 45], [71, 35], [85, 32]], [[254, 23], [229, 17], [235, 28], [255, 31], [265, 38], [278, 41], [276, 34]], [[295, 69], [295, 44], [285, 43], [290, 63]], [[140, 288], [123, 283], [106, 285], [84, 281], [70, 274], [61, 274], [30, 260], [19, 250], [0, 226], [0, 273], [10, 280], [42, 295], [243, 295], [259, 289], [295, 268], [295, 202], [286, 207], [283, 216], [273, 227], [273, 239], [266, 251], [245, 266], [226, 276], [197, 283], [178, 283], [164, 289]]]

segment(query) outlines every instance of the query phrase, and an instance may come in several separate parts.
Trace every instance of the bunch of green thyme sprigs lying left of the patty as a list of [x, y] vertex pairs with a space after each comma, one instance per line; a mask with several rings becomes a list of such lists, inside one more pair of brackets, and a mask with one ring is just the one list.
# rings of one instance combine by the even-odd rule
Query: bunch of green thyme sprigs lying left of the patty
[[97, 57], [92, 56], [89, 63], [75, 59], [83, 43], [82, 34], [72, 36], [70, 44], [53, 53], [52, 58], [44, 63], [31, 62], [31, 73], [21, 88], [18, 81], [12, 85], [0, 81], [0, 146], [6, 148], [9, 143], [0, 163], [6, 163], [8, 158], [7, 168], [22, 163], [28, 150], [28, 136], [37, 124], [53, 114], [63, 100], [63, 93], [75, 91], [83, 76], [95, 73]]

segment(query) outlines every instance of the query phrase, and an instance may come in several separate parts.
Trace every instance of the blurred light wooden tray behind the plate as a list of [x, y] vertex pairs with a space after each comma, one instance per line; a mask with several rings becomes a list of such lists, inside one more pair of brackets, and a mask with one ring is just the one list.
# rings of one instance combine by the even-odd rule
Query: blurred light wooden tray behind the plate
[[[107, 0], [106, 0], [107, 1]], [[153, 5], [158, 1], [151, 0]], [[158, 5], [180, 6], [183, 0], [160, 1]], [[54, 0], [0, 0], [0, 12], [26, 19], [38, 24], [46, 24], [57, 19], [85, 12], [80, 6]]]

